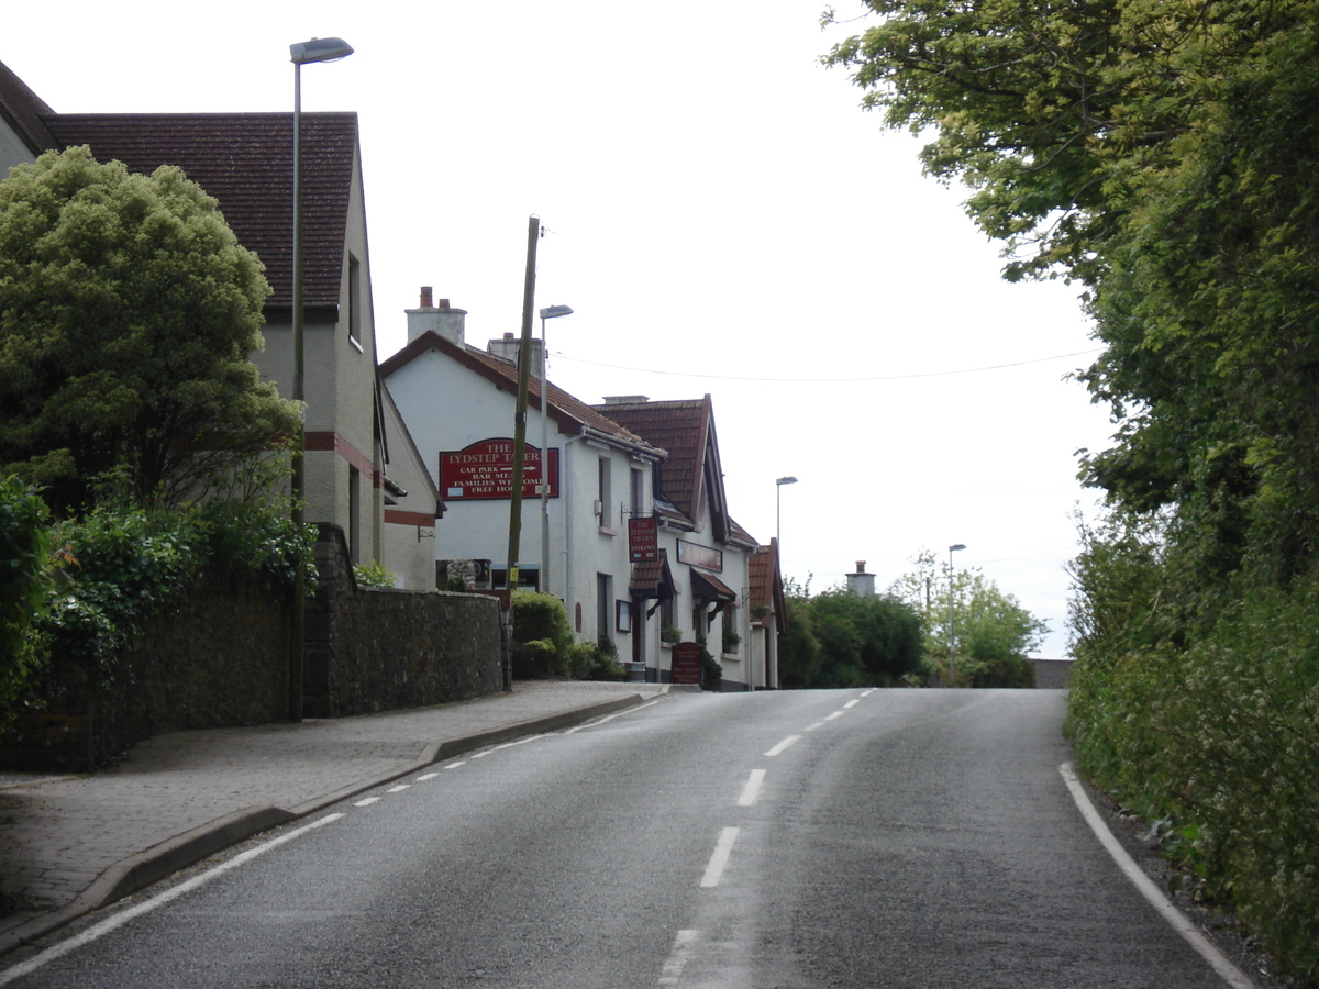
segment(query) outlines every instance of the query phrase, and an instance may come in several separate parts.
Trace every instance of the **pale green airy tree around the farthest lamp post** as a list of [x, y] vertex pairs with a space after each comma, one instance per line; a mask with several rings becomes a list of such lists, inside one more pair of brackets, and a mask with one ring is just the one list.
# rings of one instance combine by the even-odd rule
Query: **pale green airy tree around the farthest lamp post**
[[913, 563], [915, 570], [898, 578], [890, 593], [925, 616], [923, 673], [947, 680], [951, 620], [956, 624], [959, 686], [1034, 687], [1028, 653], [1039, 647], [1049, 626], [979, 570], [950, 572], [930, 550], [922, 550]]

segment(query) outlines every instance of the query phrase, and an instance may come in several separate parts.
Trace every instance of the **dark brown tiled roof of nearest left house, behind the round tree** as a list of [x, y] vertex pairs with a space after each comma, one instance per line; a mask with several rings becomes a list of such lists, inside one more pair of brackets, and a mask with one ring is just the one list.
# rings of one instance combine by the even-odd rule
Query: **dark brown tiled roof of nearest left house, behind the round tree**
[[[291, 307], [293, 113], [47, 113], [42, 123], [59, 146], [90, 145], [98, 161], [183, 169], [265, 262], [268, 306]], [[302, 115], [309, 307], [339, 302], [356, 149], [356, 113]]]

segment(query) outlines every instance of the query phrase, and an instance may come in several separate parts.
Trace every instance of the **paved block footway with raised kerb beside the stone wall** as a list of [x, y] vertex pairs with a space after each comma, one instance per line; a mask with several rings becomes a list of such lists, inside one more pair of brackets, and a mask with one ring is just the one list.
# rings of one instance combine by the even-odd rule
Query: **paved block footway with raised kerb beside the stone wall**
[[[559, 731], [667, 684], [534, 680], [364, 717], [171, 732], [92, 775], [0, 770], [0, 955], [268, 828], [463, 752]], [[0, 898], [3, 903], [4, 898]]]

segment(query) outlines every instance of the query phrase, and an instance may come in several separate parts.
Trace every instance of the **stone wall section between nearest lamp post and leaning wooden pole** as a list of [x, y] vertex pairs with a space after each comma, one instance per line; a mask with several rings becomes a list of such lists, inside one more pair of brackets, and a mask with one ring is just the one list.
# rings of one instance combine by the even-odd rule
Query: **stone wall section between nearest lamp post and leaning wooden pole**
[[443, 591], [361, 589], [343, 533], [322, 526], [307, 609], [307, 717], [468, 700], [503, 688], [499, 603]]

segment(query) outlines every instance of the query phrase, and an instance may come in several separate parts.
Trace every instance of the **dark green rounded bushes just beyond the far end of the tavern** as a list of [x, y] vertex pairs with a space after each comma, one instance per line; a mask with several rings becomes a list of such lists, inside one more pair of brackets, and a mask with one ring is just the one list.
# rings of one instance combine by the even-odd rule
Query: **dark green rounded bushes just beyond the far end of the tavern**
[[778, 638], [783, 687], [889, 687], [921, 663], [921, 617], [896, 597], [834, 588], [811, 597], [785, 587], [786, 630]]

